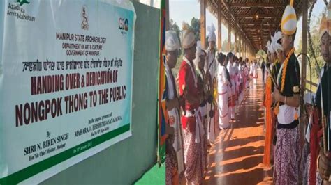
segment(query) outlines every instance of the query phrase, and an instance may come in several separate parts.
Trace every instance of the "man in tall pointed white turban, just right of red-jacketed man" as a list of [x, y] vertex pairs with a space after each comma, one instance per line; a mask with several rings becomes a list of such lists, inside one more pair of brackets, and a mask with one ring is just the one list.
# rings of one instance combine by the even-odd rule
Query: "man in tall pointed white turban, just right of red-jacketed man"
[[208, 140], [210, 143], [214, 143], [215, 140], [215, 131], [214, 131], [214, 115], [216, 107], [213, 102], [213, 95], [215, 89], [214, 84], [216, 84], [217, 78], [217, 61], [216, 61], [216, 35], [215, 35], [215, 26], [212, 24], [207, 27], [208, 31], [208, 44], [207, 49], [207, 60], [205, 63], [205, 73], [207, 74], [207, 88], [209, 89], [209, 101], [207, 103], [207, 123], [208, 123]]

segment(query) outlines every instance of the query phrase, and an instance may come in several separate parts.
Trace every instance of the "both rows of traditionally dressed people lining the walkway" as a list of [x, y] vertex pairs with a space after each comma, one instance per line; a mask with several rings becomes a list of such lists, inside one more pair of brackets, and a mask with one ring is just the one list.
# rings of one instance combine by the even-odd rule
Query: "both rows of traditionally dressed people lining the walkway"
[[[274, 166], [275, 184], [328, 184], [331, 181], [331, 8], [320, 29], [325, 65], [316, 95], [303, 93], [294, 40], [297, 17], [293, 1], [286, 6], [281, 28], [267, 43], [265, 83], [265, 154], [263, 163]], [[183, 28], [182, 46], [174, 31], [166, 32], [167, 79], [166, 183], [201, 184], [207, 170], [208, 147], [218, 129], [235, 120], [244, 90], [257, 83], [258, 63], [216, 52], [214, 26], [208, 28], [208, 48], [203, 50], [194, 33]], [[179, 48], [184, 49], [178, 77], [172, 74]], [[178, 79], [178, 81], [176, 80]], [[253, 82], [251, 82], [253, 79]], [[179, 92], [177, 93], [177, 87]], [[304, 99], [307, 121], [304, 147], [300, 145], [300, 104]], [[244, 180], [244, 179], [243, 179]]]

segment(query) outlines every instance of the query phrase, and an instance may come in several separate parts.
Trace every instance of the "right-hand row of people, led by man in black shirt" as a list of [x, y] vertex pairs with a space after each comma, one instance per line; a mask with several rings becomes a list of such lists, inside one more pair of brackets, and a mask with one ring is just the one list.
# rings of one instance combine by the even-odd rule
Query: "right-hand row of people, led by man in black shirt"
[[[307, 115], [304, 146], [300, 145], [300, 65], [294, 54], [297, 18], [293, 2], [286, 6], [281, 31], [267, 43], [265, 81], [265, 154], [263, 163], [274, 166], [274, 184], [330, 184], [330, 67], [331, 7], [320, 28], [321, 55], [325, 65], [316, 95], [304, 93]], [[303, 124], [303, 123], [301, 123]]]

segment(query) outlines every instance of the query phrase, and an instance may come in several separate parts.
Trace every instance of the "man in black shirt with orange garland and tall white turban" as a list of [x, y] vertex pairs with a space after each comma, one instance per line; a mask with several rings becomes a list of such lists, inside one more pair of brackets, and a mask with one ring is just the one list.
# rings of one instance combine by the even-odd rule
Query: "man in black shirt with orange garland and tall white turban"
[[286, 58], [277, 77], [279, 89], [274, 89], [278, 120], [274, 156], [275, 184], [299, 184], [300, 131], [297, 125], [300, 106], [300, 67], [293, 47], [296, 26], [297, 17], [291, 1], [281, 18], [281, 45]]

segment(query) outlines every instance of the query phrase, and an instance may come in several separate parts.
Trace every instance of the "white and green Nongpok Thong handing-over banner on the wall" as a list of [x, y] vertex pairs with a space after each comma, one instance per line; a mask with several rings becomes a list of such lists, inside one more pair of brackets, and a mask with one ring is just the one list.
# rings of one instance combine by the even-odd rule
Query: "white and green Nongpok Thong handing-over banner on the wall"
[[0, 2], [0, 184], [131, 136], [134, 29], [130, 1]]

